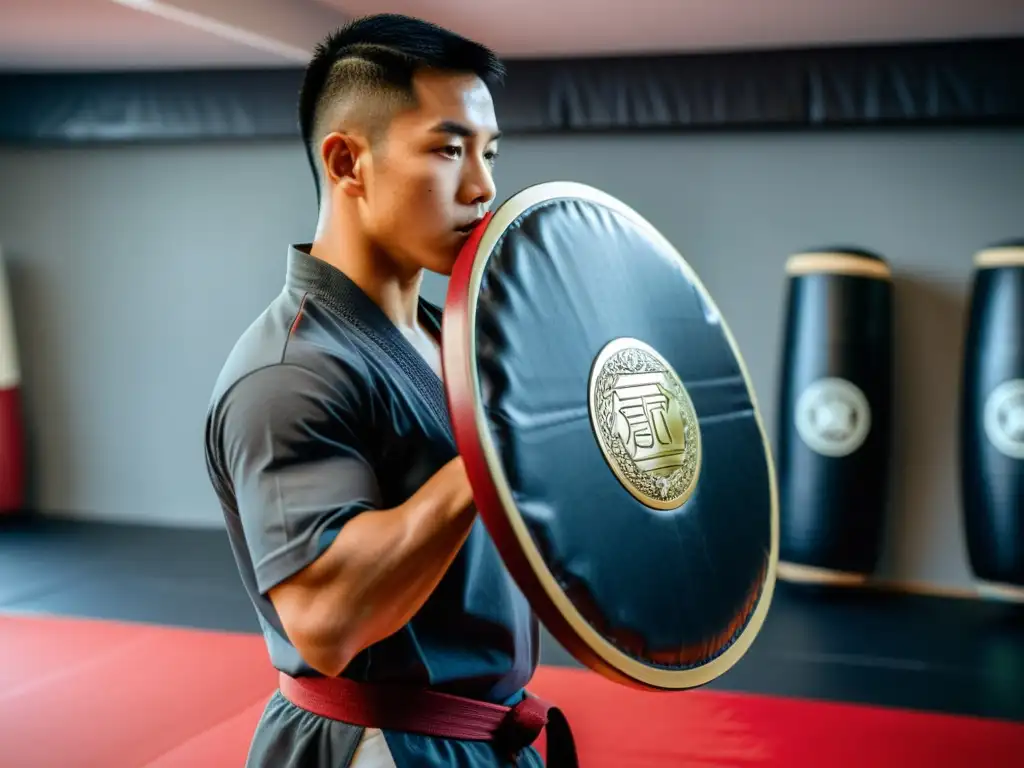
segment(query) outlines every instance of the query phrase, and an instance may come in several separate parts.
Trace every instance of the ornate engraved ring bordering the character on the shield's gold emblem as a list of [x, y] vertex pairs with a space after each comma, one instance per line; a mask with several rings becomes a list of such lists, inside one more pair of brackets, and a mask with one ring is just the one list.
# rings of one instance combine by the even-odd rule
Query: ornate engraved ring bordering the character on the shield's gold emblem
[[653, 355], [642, 349], [623, 349], [605, 361], [601, 367], [595, 386], [597, 424], [601, 439], [623, 475], [643, 494], [652, 499], [669, 502], [686, 493], [697, 468], [697, 437], [694, 434], [696, 424], [689, 404], [689, 397], [673, 376], [667, 376], [666, 386], [675, 395], [683, 416], [685, 442], [683, 449], [683, 466], [668, 477], [656, 477], [641, 470], [626, 451], [618, 433], [614, 429], [614, 414], [611, 410], [611, 392], [615, 380], [623, 374], [667, 373], [666, 368]]

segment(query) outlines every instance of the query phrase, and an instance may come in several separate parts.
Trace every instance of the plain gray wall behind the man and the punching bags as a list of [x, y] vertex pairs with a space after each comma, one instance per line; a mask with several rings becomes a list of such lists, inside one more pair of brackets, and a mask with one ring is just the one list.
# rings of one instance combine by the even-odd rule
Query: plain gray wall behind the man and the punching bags
[[[782, 265], [808, 246], [876, 249], [897, 278], [897, 477], [884, 574], [968, 573], [954, 398], [972, 253], [1024, 234], [1024, 133], [511, 139], [500, 197], [570, 178], [642, 211], [702, 275], [774, 433]], [[5, 249], [43, 509], [219, 524], [202, 452], [232, 341], [307, 239], [292, 143], [0, 151]], [[431, 298], [443, 282], [431, 280]]]

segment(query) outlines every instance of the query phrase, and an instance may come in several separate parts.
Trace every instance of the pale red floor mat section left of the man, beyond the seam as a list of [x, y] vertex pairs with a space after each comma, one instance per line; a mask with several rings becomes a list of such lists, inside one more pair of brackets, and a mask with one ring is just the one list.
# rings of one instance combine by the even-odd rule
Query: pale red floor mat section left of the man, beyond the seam
[[251, 635], [0, 617], [0, 681], [2, 768], [136, 768], [265, 700], [275, 677]]

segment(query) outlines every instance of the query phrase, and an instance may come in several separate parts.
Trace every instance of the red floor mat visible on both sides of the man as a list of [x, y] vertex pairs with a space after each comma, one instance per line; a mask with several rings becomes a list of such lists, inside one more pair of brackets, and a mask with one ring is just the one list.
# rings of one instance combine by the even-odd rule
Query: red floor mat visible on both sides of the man
[[[272, 692], [262, 639], [0, 617], [0, 767], [229, 768]], [[568, 715], [584, 768], [1022, 765], [1024, 725], [701, 690], [578, 670], [530, 686]]]

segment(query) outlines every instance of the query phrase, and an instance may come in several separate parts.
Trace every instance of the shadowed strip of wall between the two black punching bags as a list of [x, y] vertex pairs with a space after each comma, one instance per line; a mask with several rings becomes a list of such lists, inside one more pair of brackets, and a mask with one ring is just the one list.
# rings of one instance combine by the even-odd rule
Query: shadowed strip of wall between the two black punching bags
[[[892, 496], [879, 572], [953, 584], [969, 578], [957, 460], [968, 292], [920, 273], [896, 272], [893, 287]], [[961, 543], [956, 562], [929, 561], [950, 541]]]

